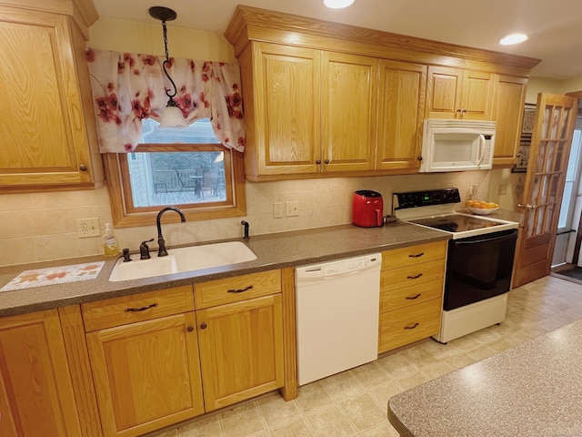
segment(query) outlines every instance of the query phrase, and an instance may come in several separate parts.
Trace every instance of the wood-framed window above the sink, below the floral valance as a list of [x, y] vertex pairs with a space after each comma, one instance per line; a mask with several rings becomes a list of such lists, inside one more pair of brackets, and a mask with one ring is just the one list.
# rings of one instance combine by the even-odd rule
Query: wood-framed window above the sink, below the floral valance
[[186, 129], [143, 121], [134, 152], [104, 156], [115, 227], [155, 223], [170, 205], [188, 220], [246, 214], [242, 154], [220, 144], [209, 120]]

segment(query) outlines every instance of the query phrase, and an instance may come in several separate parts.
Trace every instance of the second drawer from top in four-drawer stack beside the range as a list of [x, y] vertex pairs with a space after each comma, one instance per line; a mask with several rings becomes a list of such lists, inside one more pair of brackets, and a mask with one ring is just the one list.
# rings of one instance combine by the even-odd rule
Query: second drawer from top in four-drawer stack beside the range
[[380, 273], [380, 290], [392, 291], [403, 287], [413, 287], [445, 278], [445, 259], [420, 262], [414, 266], [400, 269], [382, 270]]

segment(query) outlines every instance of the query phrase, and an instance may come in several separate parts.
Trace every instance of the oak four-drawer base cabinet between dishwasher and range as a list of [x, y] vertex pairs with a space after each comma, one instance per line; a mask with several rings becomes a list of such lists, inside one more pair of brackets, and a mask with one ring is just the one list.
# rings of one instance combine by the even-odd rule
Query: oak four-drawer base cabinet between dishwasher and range
[[438, 333], [447, 241], [382, 254], [378, 353]]

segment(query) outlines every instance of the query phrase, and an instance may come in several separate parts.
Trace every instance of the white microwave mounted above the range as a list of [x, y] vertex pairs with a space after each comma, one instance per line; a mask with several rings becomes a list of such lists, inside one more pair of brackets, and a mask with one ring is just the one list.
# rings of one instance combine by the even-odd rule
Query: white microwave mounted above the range
[[495, 121], [426, 119], [419, 171], [490, 169], [495, 131]]

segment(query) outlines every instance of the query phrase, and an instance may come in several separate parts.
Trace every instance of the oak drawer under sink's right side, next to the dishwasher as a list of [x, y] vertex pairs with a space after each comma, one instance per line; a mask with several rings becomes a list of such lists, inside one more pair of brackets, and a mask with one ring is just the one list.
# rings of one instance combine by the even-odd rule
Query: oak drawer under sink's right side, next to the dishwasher
[[196, 310], [281, 292], [281, 270], [216, 279], [194, 288]]

